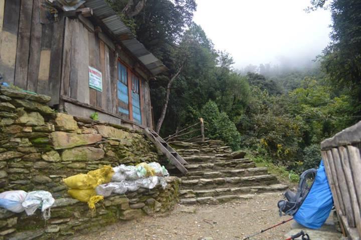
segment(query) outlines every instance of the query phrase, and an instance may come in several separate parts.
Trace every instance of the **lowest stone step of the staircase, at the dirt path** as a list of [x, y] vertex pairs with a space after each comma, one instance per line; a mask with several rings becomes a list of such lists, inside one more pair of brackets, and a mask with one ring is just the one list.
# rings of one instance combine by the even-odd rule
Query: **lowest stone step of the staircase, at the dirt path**
[[195, 198], [182, 198], [180, 204], [219, 204], [235, 199], [251, 199], [253, 195], [221, 195], [216, 197], [195, 197]]

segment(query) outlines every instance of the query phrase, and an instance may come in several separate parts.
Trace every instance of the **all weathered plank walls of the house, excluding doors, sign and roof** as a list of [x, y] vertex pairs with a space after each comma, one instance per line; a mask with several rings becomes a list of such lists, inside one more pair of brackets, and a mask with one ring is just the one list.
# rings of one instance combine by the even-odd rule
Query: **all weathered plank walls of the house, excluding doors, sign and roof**
[[[117, 101], [117, 63], [120, 60], [141, 81], [141, 124], [151, 127], [148, 76], [137, 61], [116, 47], [106, 34], [96, 32], [91, 19], [82, 15], [42, 24], [44, 1], [0, 0], [0, 74], [3, 81], [51, 96], [50, 105], [64, 105], [61, 99], [69, 98], [124, 118], [118, 111]], [[89, 88], [88, 66], [102, 73], [102, 92]], [[133, 120], [132, 114], [129, 118]]]

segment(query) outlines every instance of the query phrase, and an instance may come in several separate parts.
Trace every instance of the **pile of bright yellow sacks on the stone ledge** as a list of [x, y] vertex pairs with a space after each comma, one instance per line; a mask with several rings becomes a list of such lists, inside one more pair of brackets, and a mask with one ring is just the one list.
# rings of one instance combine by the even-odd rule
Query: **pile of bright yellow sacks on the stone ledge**
[[90, 209], [95, 209], [95, 204], [104, 199], [104, 196], [96, 193], [95, 188], [110, 182], [114, 170], [111, 166], [89, 171], [87, 174], [77, 174], [63, 179], [68, 186], [71, 197], [82, 202], [87, 202]]

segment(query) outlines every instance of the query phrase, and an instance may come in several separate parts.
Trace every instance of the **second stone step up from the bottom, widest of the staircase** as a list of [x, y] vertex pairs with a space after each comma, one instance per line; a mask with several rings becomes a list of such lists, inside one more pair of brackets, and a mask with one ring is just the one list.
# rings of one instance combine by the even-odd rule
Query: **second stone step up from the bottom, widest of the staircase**
[[215, 188], [215, 189], [203, 189], [203, 190], [193, 190], [193, 189], [183, 189], [180, 190], [180, 197], [182, 199], [186, 198], [197, 198], [197, 197], [216, 197], [220, 195], [239, 195], [246, 193], [262, 193], [262, 192], [273, 192], [273, 191], [283, 191], [288, 188], [287, 185], [283, 184], [273, 184], [273, 185], [262, 185], [262, 186], [248, 186], [248, 187], [224, 187], [224, 188]]

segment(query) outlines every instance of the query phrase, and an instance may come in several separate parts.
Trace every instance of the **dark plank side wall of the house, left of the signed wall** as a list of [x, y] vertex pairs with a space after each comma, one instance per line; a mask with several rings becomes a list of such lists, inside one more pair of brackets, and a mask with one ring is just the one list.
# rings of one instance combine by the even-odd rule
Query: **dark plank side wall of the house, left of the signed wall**
[[44, 0], [0, 0], [0, 74], [59, 103], [64, 19], [40, 23]]

